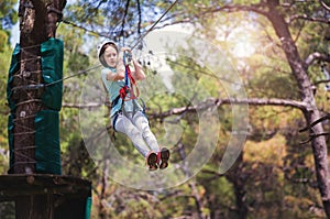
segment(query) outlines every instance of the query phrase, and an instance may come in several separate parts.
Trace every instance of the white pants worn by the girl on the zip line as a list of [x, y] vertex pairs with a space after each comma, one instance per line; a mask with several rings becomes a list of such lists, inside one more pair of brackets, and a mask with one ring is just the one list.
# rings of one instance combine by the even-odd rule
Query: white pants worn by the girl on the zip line
[[135, 149], [146, 157], [150, 152], [160, 152], [160, 145], [155, 135], [150, 130], [146, 117], [138, 111], [133, 113], [119, 113], [116, 119], [114, 129], [128, 135]]

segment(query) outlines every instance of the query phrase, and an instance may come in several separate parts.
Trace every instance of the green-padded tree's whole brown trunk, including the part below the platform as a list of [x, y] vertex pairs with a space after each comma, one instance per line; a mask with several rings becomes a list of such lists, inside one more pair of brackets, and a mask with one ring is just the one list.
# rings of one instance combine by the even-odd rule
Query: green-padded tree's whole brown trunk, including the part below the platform
[[[16, 102], [13, 130], [13, 173], [35, 173], [35, 114], [44, 107], [41, 89], [26, 89], [28, 85], [42, 84], [41, 43], [55, 36], [58, 12], [63, 0], [20, 0], [20, 70], [14, 74], [13, 98]], [[57, 10], [55, 10], [57, 9]], [[56, 13], [54, 13], [56, 11]], [[24, 196], [15, 201], [18, 219], [53, 218], [53, 196]]]

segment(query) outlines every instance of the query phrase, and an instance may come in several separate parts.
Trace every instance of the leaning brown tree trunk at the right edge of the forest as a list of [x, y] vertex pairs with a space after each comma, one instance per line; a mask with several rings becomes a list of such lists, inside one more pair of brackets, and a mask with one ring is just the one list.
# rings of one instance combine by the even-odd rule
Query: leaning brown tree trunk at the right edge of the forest
[[[267, 18], [272, 22], [276, 35], [282, 42], [282, 48], [286, 55], [292, 72], [296, 78], [297, 85], [300, 90], [301, 101], [306, 103], [304, 116], [307, 125], [311, 122], [320, 119], [320, 111], [317, 108], [314, 87], [310, 78], [307, 74], [307, 66], [301, 61], [297, 46], [293, 41], [292, 34], [288, 29], [288, 24], [285, 21], [284, 14], [278, 10], [279, 3], [268, 0], [270, 9]], [[323, 133], [323, 127], [321, 123], [317, 123], [309, 129], [309, 134], [312, 138], [316, 134]], [[330, 218], [330, 185], [329, 185], [329, 169], [328, 169], [328, 150], [324, 135], [315, 136], [311, 140], [311, 146], [315, 157], [315, 167], [317, 173], [318, 187], [323, 201], [324, 211], [328, 218]]]

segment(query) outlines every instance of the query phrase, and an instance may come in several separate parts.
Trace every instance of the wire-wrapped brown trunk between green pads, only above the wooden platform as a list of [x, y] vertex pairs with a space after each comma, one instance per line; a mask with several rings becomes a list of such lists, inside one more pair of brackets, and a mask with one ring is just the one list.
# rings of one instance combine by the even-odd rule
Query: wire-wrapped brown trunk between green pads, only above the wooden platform
[[[23, 87], [14, 91], [16, 109], [14, 112], [14, 166], [13, 173], [34, 173], [34, 117], [41, 110], [37, 90], [24, 89], [31, 84], [41, 84], [40, 44], [46, 40], [37, 33], [42, 30], [36, 20], [43, 20], [41, 13], [35, 13], [36, 6], [30, 0], [21, 0], [20, 15], [20, 72], [14, 75], [14, 86]], [[43, 32], [43, 31], [40, 31]]]

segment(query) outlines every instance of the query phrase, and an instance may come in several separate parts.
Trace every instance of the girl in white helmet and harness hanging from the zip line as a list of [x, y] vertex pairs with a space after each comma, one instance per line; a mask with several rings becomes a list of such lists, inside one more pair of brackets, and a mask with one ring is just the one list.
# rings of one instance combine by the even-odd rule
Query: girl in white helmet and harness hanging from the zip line
[[[112, 41], [106, 41], [98, 46], [98, 57], [103, 65], [101, 77], [112, 106], [110, 118], [113, 129], [130, 138], [134, 147], [145, 157], [150, 171], [166, 168], [169, 151], [166, 147], [160, 149], [144, 109], [132, 92], [135, 81], [145, 78], [142, 66], [132, 57], [130, 48], [122, 47], [119, 51]], [[132, 72], [129, 62], [133, 64]]]

